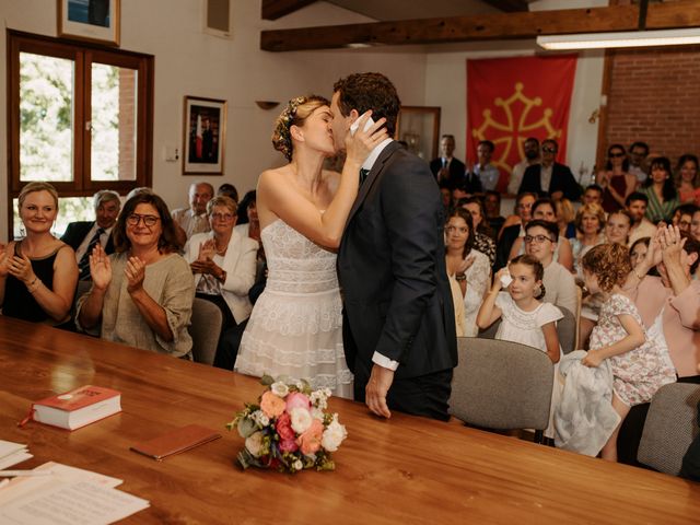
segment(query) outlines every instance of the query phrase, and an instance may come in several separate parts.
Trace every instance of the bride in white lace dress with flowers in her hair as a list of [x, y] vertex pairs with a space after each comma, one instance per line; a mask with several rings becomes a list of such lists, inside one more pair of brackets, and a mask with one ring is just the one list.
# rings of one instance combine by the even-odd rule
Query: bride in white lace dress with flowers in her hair
[[[385, 119], [347, 133], [342, 174], [323, 170], [334, 143], [330, 103], [300, 96], [278, 117], [272, 144], [289, 164], [262, 172], [257, 187], [260, 237], [268, 265], [241, 341], [234, 370], [307, 380], [314, 388], [352, 398], [352, 373], [342, 350], [336, 254], [369, 153], [387, 138]], [[381, 128], [381, 129], [380, 129]], [[377, 131], [378, 130], [378, 131]]]

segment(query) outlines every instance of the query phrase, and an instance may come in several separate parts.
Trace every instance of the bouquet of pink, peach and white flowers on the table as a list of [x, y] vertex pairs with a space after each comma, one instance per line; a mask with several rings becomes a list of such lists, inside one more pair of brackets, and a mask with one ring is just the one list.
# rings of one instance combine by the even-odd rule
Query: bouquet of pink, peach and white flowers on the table
[[257, 404], [246, 404], [226, 424], [236, 428], [245, 446], [237, 459], [250, 466], [296, 472], [304, 468], [334, 470], [330, 453], [348, 436], [337, 413], [327, 413], [330, 390], [312, 390], [306, 381], [285, 382], [264, 376], [267, 386]]

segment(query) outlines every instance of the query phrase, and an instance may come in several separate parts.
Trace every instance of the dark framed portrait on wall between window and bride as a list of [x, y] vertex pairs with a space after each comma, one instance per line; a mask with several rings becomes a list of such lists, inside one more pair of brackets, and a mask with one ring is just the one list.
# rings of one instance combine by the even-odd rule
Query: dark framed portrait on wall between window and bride
[[185, 97], [184, 175], [223, 175], [226, 101]]

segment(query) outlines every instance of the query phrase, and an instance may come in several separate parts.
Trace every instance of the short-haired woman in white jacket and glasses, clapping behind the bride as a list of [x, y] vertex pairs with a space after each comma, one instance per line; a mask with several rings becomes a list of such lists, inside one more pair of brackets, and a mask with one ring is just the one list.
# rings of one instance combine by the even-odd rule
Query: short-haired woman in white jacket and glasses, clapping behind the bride
[[221, 310], [221, 341], [224, 332], [247, 319], [253, 310], [248, 291], [255, 283], [258, 243], [233, 228], [233, 199], [214, 197], [207, 203], [207, 215], [211, 231], [192, 235], [185, 258], [195, 275], [196, 296]]

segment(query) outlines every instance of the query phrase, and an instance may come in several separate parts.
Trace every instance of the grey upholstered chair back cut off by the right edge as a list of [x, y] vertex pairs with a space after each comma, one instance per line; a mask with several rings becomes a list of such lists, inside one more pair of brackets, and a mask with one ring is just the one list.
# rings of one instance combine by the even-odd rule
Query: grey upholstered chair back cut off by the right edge
[[700, 433], [700, 385], [670, 383], [662, 386], [649, 407], [637, 459], [660, 472], [678, 476], [682, 456]]

